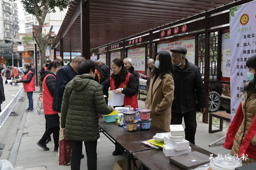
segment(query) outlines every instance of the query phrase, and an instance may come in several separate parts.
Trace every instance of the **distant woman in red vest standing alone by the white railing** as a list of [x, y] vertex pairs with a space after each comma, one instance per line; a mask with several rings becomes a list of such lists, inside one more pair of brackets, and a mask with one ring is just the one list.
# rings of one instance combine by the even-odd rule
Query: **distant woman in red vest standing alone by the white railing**
[[33, 104], [33, 91], [35, 91], [35, 77], [30, 68], [32, 65], [25, 64], [23, 65], [23, 79], [18, 79], [15, 82], [23, 82], [24, 90], [27, 92], [29, 99], [29, 107], [25, 110], [26, 112], [34, 111]]

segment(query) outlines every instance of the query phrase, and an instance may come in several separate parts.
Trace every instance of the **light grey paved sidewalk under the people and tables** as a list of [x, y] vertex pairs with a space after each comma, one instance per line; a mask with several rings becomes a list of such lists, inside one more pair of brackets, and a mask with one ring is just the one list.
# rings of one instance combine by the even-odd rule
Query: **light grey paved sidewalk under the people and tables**
[[[15, 162], [15, 170], [70, 170], [70, 166], [58, 165], [58, 153], [53, 152], [53, 141], [47, 144], [49, 151], [44, 151], [36, 142], [41, 139], [45, 130], [44, 112], [37, 113], [36, 102], [37, 93], [33, 94], [35, 112], [26, 114], [26, 121], [24, 123], [23, 133], [17, 152], [17, 159]], [[145, 99], [139, 100], [139, 108], [145, 107]], [[183, 124], [184, 126], [184, 124]], [[215, 127], [213, 127], [215, 129]], [[230, 153], [230, 150], [222, 146], [208, 147], [208, 145], [215, 140], [225, 136], [227, 131], [217, 133], [208, 133], [208, 125], [198, 121], [198, 128], [195, 136], [196, 145], [209, 150], [215, 154], [225, 155]], [[53, 139], [53, 138], [52, 138]], [[97, 165], [99, 170], [112, 170], [116, 160], [125, 159], [125, 155], [112, 156], [114, 144], [100, 134], [97, 145], [98, 160]], [[83, 147], [83, 153], [85, 149]], [[87, 170], [87, 159], [81, 159], [81, 170]]]

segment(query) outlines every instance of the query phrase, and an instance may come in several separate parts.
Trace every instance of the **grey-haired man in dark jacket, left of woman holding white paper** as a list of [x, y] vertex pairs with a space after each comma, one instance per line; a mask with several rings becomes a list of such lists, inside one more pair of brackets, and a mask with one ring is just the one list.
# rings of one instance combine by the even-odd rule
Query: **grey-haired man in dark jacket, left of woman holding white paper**
[[[102, 84], [106, 79], [110, 77], [110, 68], [108, 67], [108, 65], [105, 65], [102, 59], [98, 60], [98, 65], [99, 65], [100, 76], [101, 76], [100, 84]], [[107, 96], [105, 97], [105, 100], [106, 100], [106, 103], [108, 104], [108, 89], [105, 89], [105, 91], [103, 91], [103, 94]]]

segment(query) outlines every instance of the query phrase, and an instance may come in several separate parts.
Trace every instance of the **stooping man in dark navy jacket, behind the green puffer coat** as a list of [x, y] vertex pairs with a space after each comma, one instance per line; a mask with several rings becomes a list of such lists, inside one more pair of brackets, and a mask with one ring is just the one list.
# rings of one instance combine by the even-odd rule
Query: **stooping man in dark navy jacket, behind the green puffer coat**
[[[61, 67], [56, 75], [56, 87], [54, 91], [54, 97], [52, 102], [52, 110], [57, 111], [58, 115], [61, 117], [61, 103], [64, 94], [65, 87], [68, 82], [70, 82], [74, 77], [76, 77], [77, 66], [80, 62], [85, 60], [82, 56], [77, 56], [73, 59], [71, 63]], [[60, 137], [59, 140], [63, 139], [63, 129], [60, 126]], [[59, 150], [58, 150], [59, 155]]]

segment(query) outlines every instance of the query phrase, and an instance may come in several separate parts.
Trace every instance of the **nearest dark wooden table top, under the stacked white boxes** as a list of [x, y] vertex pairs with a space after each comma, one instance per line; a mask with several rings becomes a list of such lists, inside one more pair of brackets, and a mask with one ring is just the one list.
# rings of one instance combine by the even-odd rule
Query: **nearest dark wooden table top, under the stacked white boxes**
[[[196, 146], [195, 144], [189, 144], [192, 152], [198, 151], [206, 154], [206, 156], [210, 157], [211, 152], [204, 150], [201, 147]], [[146, 150], [142, 152], [133, 153], [133, 155], [142, 162], [145, 167], [149, 170], [181, 170], [179, 167], [170, 163], [169, 157], [166, 157], [163, 154], [162, 149], [154, 149], [154, 150]], [[213, 154], [213, 157], [217, 155]]]

